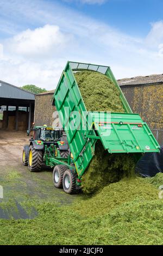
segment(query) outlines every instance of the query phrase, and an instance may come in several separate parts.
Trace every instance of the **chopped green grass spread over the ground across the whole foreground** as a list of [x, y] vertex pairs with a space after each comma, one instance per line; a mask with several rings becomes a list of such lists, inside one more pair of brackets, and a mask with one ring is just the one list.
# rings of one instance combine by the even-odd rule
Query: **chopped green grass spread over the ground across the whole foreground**
[[28, 201], [39, 216], [0, 220], [0, 244], [161, 245], [163, 203], [156, 184], [163, 174], [152, 180], [123, 178], [91, 198], [78, 195], [71, 205]]

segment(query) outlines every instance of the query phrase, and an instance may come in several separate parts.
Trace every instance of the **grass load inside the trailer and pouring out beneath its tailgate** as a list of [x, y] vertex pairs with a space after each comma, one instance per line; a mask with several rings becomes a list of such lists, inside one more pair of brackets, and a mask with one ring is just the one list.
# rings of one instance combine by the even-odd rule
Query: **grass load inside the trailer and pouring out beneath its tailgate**
[[[82, 71], [74, 75], [87, 111], [124, 113], [120, 92], [110, 78], [94, 71]], [[124, 176], [133, 176], [134, 168], [132, 155], [109, 154], [98, 141], [95, 156], [82, 178], [83, 191], [92, 194]]]

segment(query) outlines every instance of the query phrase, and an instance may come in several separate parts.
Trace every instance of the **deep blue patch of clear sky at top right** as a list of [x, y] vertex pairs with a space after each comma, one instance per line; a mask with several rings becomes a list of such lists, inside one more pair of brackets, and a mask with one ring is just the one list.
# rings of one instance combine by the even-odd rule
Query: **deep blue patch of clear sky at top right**
[[106, 0], [100, 2], [101, 4], [84, 4], [81, 1], [62, 0], [62, 3], [68, 7], [108, 23], [124, 33], [137, 36], [146, 36], [151, 28], [150, 23], [162, 19], [162, 0]]

